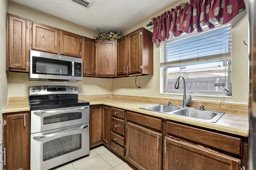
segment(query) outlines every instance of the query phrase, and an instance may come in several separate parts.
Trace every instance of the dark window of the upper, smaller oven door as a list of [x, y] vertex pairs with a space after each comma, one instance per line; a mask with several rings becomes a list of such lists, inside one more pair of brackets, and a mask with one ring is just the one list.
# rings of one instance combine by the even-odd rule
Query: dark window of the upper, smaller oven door
[[43, 123], [44, 125], [47, 125], [47, 124], [58, 123], [62, 121], [77, 120], [77, 119], [82, 119], [81, 112], [61, 113], [57, 115], [46, 116], [43, 119]]

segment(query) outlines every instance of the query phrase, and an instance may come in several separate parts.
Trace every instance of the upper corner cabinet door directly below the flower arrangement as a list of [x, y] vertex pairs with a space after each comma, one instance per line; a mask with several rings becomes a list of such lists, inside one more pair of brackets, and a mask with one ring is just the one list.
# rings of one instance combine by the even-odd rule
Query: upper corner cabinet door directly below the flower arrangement
[[97, 41], [97, 75], [115, 76], [116, 41]]

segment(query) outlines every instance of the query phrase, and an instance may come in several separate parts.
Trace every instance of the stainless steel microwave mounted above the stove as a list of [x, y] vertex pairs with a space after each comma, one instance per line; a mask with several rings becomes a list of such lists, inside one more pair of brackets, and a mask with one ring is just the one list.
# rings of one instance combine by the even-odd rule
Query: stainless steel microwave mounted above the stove
[[29, 80], [61, 82], [83, 80], [82, 59], [30, 50], [29, 61]]

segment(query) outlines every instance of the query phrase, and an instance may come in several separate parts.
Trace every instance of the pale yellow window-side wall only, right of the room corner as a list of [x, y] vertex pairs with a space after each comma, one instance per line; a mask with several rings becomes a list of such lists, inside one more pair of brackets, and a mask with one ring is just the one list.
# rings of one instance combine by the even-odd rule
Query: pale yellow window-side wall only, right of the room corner
[[[243, 44], [243, 40], [247, 42], [248, 37], [248, 0], [246, 3], [246, 11], [238, 15], [232, 20], [232, 98], [224, 99], [224, 102], [234, 102], [248, 104], [248, 47]], [[174, 4], [160, 10], [153, 14], [146, 20], [143, 20], [129, 29], [124, 30], [124, 33], [130, 33], [140, 27], [145, 27], [153, 31], [153, 26], [146, 27], [154, 18], [166, 10], [175, 8], [179, 4], [187, 2], [185, 0], [178, 0]], [[138, 95], [138, 96], [154, 96], [163, 98], [182, 98], [183, 96], [173, 96], [160, 94], [160, 46], [154, 44], [154, 75], [153, 76], [139, 76], [137, 78], [137, 85], [144, 85], [144, 91], [138, 92], [135, 86], [135, 77], [113, 79], [112, 94]], [[192, 100], [208, 100], [221, 101], [221, 98], [207, 98], [192, 96]]]

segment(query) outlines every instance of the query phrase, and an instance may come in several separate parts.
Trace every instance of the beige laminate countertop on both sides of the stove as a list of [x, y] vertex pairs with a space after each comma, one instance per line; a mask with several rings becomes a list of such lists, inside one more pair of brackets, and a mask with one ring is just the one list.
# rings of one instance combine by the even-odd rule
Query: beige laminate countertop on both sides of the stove
[[[169, 120], [178, 121], [182, 123], [188, 123], [188, 124], [196, 125], [199, 127], [215, 129], [217, 131], [222, 131], [226, 133], [248, 137], [249, 123], [248, 123], [248, 115], [246, 114], [225, 112], [225, 114], [216, 123], [207, 123], [202, 121], [186, 119], [186, 118], [175, 116], [175, 115], [168, 115], [164, 113], [158, 113], [155, 111], [140, 109], [140, 107], [153, 105], [150, 102], [143, 103], [143, 102], [138, 102], [137, 100], [127, 101], [127, 100], [111, 99], [111, 98], [90, 99], [90, 98], [86, 98], [86, 96], [85, 97], [79, 96], [79, 99], [90, 102], [90, 105], [104, 104], [106, 106], [118, 107], [121, 109], [144, 113], [147, 115], [152, 115], [152, 116], [156, 116], [164, 119], [169, 119]], [[16, 102], [15, 101], [16, 100], [9, 100], [8, 105], [2, 109], [2, 113], [30, 111], [28, 99], [18, 100]]]

